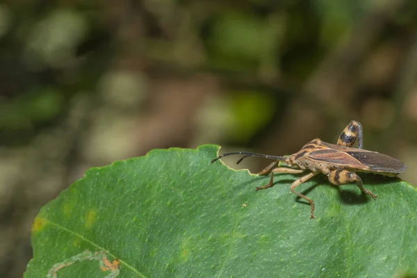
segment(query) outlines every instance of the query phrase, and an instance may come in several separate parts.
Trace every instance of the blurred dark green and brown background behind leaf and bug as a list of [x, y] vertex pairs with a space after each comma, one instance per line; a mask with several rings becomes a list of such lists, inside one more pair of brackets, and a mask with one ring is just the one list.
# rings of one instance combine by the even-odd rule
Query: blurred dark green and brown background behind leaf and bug
[[1, 1], [0, 277], [42, 205], [154, 148], [292, 154], [358, 120], [417, 184], [416, 27], [414, 0]]

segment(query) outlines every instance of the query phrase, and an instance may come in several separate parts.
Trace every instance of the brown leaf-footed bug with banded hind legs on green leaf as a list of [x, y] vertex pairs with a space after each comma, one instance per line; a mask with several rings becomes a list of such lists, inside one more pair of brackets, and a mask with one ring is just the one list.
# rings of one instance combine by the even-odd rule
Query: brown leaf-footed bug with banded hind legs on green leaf
[[[357, 141], [357, 148], [354, 148], [354, 142]], [[259, 175], [271, 174], [270, 181], [265, 186], [256, 187], [256, 191], [274, 186], [275, 173], [300, 174], [306, 170], [310, 173], [296, 179], [291, 183], [290, 190], [300, 198], [310, 203], [310, 218], [314, 218], [314, 202], [312, 199], [295, 191], [297, 186], [308, 181], [316, 174], [325, 174], [331, 183], [341, 186], [347, 183], [356, 183], [357, 187], [365, 193], [377, 198], [370, 190], [363, 188], [362, 179], [356, 172], [372, 172], [382, 174], [387, 177], [396, 177], [405, 171], [407, 165], [386, 154], [370, 152], [362, 149], [362, 126], [359, 122], [351, 121], [337, 140], [337, 145], [323, 142], [316, 138], [308, 142], [299, 152], [291, 156], [270, 156], [267, 154], [254, 154], [252, 152], [231, 152], [222, 154], [213, 159], [210, 163], [218, 161], [224, 156], [234, 154], [243, 154], [236, 164], [249, 156], [260, 156], [263, 158], [273, 159], [270, 165], [259, 172]], [[279, 167], [279, 162], [284, 162], [288, 167]]]

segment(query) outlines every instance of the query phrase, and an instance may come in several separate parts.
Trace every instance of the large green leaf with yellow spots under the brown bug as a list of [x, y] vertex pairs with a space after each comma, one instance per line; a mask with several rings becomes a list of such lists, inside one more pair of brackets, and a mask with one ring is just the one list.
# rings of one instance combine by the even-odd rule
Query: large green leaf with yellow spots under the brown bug
[[[417, 272], [417, 192], [363, 176], [373, 201], [324, 176], [290, 193], [231, 170], [218, 146], [155, 149], [92, 168], [33, 224], [24, 277], [394, 277]], [[55, 275], [55, 276], [54, 276]]]

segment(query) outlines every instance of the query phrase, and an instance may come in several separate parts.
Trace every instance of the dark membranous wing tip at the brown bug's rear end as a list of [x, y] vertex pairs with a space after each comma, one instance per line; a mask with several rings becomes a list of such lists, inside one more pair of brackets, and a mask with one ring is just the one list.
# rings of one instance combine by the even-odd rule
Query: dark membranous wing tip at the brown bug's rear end
[[386, 154], [379, 154], [378, 152], [346, 152], [360, 163], [368, 166], [370, 170], [377, 172], [391, 172], [402, 173], [407, 168], [401, 161], [398, 161]]

